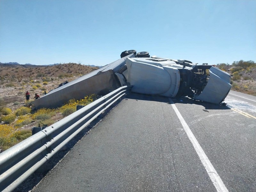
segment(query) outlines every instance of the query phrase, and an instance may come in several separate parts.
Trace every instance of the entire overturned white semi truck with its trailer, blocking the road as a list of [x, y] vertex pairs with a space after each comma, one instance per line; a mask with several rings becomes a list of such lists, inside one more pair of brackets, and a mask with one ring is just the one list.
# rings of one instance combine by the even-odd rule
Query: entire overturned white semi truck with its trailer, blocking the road
[[121, 59], [63, 84], [32, 101], [36, 108], [60, 107], [70, 99], [131, 85], [132, 92], [184, 97], [219, 104], [231, 89], [230, 75], [212, 65], [188, 60], [150, 57], [148, 52], [124, 51]]

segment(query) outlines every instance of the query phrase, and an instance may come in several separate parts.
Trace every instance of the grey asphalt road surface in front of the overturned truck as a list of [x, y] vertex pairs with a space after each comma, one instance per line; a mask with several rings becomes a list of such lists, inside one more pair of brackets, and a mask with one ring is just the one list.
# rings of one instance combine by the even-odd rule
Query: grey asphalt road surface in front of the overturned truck
[[33, 191], [256, 191], [255, 101], [129, 94]]

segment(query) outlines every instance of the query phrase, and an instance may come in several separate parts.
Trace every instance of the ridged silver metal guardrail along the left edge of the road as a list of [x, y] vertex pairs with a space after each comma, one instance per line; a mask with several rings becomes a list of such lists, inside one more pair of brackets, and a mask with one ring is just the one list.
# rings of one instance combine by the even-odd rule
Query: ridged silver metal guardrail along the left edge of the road
[[12, 191], [131, 87], [124, 86], [0, 154], [0, 191]]

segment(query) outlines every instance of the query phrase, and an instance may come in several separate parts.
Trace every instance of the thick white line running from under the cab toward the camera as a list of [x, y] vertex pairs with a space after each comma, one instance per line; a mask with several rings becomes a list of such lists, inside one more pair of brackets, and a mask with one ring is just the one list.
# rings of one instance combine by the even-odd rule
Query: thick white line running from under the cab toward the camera
[[180, 119], [180, 123], [183, 126], [184, 131], [186, 132], [191, 143], [193, 144], [193, 146], [196, 150], [196, 153], [199, 156], [202, 164], [204, 165], [204, 168], [205, 168], [206, 172], [208, 173], [210, 179], [212, 180], [212, 183], [215, 186], [216, 190], [218, 192], [228, 192], [228, 189], [226, 188], [226, 186], [224, 185], [223, 181], [221, 180], [219, 174], [216, 172], [212, 163], [210, 162], [210, 160], [204, 153], [204, 150], [201, 148], [200, 144], [196, 140], [196, 137], [191, 132], [190, 128], [188, 127], [188, 124], [185, 122], [185, 120], [181, 116], [178, 108], [175, 106], [175, 104], [173, 103], [173, 101], [170, 98], [169, 98], [169, 101], [172, 105], [172, 108], [176, 112], [178, 118]]

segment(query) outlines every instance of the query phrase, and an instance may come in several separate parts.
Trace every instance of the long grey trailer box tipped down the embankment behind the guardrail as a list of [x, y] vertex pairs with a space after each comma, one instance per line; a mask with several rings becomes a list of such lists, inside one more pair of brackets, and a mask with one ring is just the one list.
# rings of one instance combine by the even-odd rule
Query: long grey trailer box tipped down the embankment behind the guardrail
[[[32, 101], [32, 104], [35, 108], [57, 108], [70, 99], [84, 99], [86, 95], [94, 93], [106, 95], [109, 90], [115, 90], [126, 85], [125, 78], [120, 74], [120, 70], [122, 68], [126, 70], [125, 59], [130, 57], [135, 57], [135, 55], [127, 55], [74, 81], [59, 86], [39, 99]], [[115, 73], [121, 76], [116, 76]]]

